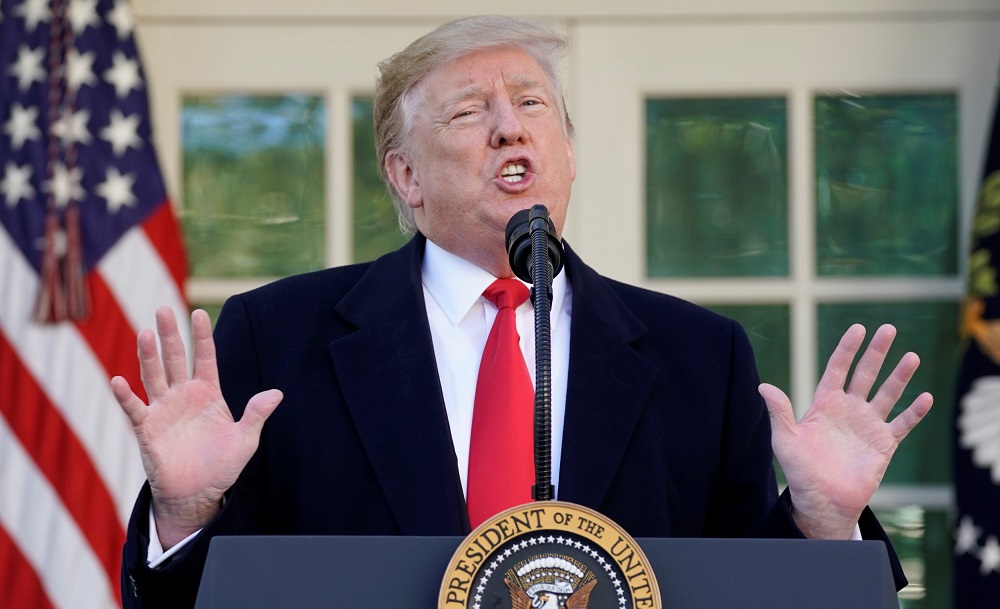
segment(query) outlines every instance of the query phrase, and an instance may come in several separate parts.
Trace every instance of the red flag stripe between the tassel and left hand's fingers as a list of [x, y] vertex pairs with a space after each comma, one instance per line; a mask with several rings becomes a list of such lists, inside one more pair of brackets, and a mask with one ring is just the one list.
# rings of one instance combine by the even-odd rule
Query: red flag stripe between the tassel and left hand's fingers
[[90, 317], [76, 322], [80, 334], [90, 345], [110, 379], [114, 375], [125, 377], [139, 399], [146, 401], [146, 390], [139, 376], [139, 359], [136, 357], [136, 333], [108, 284], [96, 270], [87, 274], [90, 292]]

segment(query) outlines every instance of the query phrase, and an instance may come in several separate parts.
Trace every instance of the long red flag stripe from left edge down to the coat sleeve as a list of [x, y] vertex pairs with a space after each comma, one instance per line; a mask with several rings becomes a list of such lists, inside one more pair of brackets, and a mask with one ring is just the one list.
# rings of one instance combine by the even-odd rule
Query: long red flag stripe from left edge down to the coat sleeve
[[115, 502], [62, 413], [2, 333], [0, 414], [76, 521], [108, 575], [112, 596], [117, 597], [125, 530], [118, 521]]

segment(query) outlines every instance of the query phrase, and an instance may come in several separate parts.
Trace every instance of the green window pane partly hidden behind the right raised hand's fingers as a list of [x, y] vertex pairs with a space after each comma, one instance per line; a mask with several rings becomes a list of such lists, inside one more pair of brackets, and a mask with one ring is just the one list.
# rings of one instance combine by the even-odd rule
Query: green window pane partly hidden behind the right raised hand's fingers
[[[924, 391], [934, 395], [934, 407], [900, 444], [884, 483], [941, 484], [951, 481], [952, 393], [959, 345], [957, 320], [958, 304], [954, 302], [829, 304], [819, 307], [820, 361], [817, 365], [820, 375], [826, 368], [827, 358], [852, 323], [860, 323], [868, 330], [861, 352], [881, 324], [896, 326], [896, 340], [875, 388], [881, 386], [904, 353], [913, 351], [920, 356], [920, 367], [889, 418], [902, 412]], [[857, 359], [860, 359], [860, 353], [855, 363]]]

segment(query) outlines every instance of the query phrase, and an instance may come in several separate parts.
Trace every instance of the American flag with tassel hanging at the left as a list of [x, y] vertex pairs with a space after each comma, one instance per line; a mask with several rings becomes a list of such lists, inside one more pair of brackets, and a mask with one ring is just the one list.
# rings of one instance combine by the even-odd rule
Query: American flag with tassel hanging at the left
[[125, 0], [0, 0], [0, 607], [119, 606], [144, 479], [111, 393], [186, 261]]

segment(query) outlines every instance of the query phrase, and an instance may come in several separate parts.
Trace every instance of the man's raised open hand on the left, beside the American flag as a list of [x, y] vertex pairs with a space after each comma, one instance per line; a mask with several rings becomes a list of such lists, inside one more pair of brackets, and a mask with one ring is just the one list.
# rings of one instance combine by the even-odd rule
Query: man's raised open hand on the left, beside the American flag
[[191, 326], [191, 376], [173, 311], [167, 307], [156, 311], [160, 354], [153, 332], [139, 332], [139, 367], [148, 406], [124, 378], [111, 379], [115, 398], [139, 441], [164, 549], [203, 528], [218, 513], [223, 493], [257, 450], [264, 421], [282, 398], [275, 389], [258, 393], [234, 421], [219, 388], [208, 314], [194, 311]]

